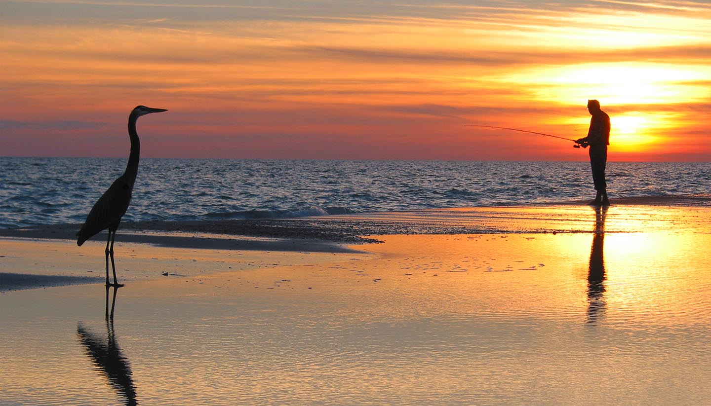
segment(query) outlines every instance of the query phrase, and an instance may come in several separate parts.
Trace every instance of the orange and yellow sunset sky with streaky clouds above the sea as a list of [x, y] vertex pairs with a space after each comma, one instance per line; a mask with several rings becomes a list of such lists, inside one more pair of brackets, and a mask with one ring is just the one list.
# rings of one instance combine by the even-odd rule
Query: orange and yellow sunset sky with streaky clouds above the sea
[[702, 1], [3, 0], [0, 156], [711, 160]]

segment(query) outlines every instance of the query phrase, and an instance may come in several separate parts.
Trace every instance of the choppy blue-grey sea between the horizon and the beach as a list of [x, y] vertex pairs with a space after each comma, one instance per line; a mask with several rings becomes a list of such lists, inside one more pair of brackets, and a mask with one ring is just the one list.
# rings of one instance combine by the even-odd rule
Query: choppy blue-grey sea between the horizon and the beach
[[[126, 158], [0, 158], [0, 228], [84, 221]], [[707, 194], [711, 163], [607, 166], [611, 199]], [[141, 160], [124, 220], [287, 218], [592, 199], [587, 162]]]

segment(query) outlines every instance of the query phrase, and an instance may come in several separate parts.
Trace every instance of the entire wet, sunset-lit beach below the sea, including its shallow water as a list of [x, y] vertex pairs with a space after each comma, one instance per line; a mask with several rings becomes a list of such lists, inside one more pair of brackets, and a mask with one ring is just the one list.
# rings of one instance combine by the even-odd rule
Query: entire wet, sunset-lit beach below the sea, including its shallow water
[[3, 230], [0, 403], [702, 405], [711, 209], [638, 203]]

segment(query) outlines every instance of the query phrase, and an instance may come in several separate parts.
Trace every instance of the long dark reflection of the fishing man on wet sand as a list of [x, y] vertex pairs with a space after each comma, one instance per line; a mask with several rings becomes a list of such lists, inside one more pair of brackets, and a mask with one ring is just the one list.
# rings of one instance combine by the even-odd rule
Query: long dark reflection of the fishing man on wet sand
[[607, 207], [595, 207], [595, 230], [590, 248], [590, 264], [587, 273], [587, 323], [597, 324], [597, 319], [605, 312], [605, 260], [603, 251], [605, 238], [605, 214]]

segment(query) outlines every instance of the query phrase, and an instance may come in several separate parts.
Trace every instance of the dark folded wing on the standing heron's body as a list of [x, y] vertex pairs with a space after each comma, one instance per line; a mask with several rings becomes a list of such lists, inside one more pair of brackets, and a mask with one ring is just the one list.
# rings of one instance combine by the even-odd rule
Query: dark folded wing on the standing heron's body
[[129, 208], [131, 192], [131, 185], [123, 176], [114, 180], [89, 212], [82, 229], [77, 233], [77, 244], [81, 246], [84, 241], [95, 236], [99, 231], [112, 226], [117, 227]]

